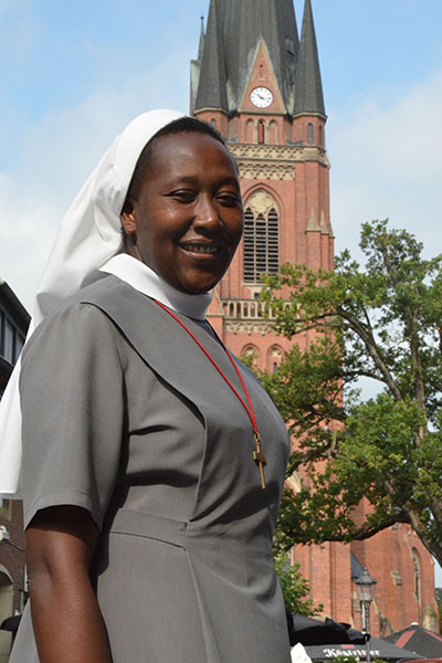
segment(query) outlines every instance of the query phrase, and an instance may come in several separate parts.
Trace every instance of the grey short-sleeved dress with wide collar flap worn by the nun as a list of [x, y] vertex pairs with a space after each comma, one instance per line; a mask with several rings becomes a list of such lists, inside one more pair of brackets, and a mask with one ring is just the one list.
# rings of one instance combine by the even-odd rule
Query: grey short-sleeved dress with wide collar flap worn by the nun
[[[179, 315], [242, 393], [206, 323]], [[253, 375], [250, 419], [149, 297], [106, 276], [35, 330], [22, 358], [24, 517], [90, 511], [114, 663], [290, 663], [272, 534], [287, 432]], [[36, 663], [29, 606], [11, 663]]]

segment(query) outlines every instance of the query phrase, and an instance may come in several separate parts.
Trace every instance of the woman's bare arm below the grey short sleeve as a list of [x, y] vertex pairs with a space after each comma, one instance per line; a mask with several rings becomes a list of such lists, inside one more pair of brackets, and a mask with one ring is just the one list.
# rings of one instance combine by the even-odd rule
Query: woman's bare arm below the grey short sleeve
[[90, 579], [98, 529], [77, 506], [42, 509], [27, 529], [32, 623], [40, 663], [110, 663]]

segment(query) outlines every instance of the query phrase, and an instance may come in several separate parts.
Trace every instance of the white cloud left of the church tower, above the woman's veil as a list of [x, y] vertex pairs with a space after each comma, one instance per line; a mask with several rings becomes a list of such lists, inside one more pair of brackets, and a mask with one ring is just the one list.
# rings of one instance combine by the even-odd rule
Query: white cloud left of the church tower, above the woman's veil
[[[113, 138], [152, 107], [187, 109], [187, 83], [170, 85], [177, 62], [127, 76], [81, 104], [23, 126], [12, 170], [0, 172], [0, 276], [30, 309], [62, 215]], [[182, 104], [185, 101], [185, 104]]]

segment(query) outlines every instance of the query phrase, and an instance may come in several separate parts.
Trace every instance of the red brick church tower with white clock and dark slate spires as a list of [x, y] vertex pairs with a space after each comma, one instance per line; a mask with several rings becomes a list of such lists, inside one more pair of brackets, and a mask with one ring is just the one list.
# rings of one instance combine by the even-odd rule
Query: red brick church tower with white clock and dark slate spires
[[287, 341], [262, 319], [261, 274], [284, 262], [333, 264], [325, 107], [311, 1], [301, 41], [293, 0], [211, 0], [191, 63], [191, 113], [229, 143], [241, 179], [244, 238], [219, 284], [211, 323], [267, 370]]

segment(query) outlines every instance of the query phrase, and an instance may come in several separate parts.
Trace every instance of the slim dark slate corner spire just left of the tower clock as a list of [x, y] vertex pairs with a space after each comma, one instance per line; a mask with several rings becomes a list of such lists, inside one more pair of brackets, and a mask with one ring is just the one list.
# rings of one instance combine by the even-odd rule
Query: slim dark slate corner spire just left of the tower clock
[[228, 110], [222, 21], [218, 0], [210, 0], [194, 110], [200, 108]]

